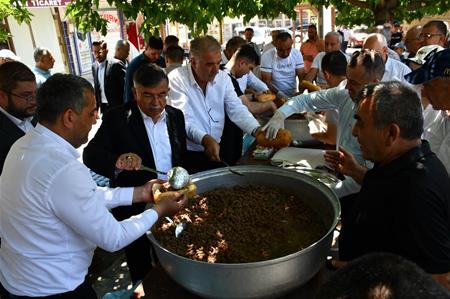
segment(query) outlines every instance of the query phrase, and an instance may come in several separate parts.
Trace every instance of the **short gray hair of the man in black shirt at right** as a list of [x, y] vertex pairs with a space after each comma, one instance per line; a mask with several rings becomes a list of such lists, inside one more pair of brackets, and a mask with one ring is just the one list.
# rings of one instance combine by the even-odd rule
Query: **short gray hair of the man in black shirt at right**
[[400, 137], [420, 138], [423, 132], [422, 104], [417, 93], [398, 81], [369, 84], [360, 92], [357, 102], [371, 98], [375, 105], [374, 125], [383, 129], [395, 123]]

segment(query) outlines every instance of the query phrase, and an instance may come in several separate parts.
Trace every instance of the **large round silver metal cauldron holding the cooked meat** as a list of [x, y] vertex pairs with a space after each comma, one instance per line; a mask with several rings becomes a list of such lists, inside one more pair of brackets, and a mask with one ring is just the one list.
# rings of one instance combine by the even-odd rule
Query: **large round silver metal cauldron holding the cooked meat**
[[281, 258], [244, 264], [209, 264], [169, 252], [149, 233], [162, 267], [180, 285], [206, 298], [275, 298], [311, 279], [322, 267], [340, 215], [337, 196], [317, 180], [273, 166], [237, 166], [245, 176], [226, 168], [192, 176], [198, 193], [234, 185], [264, 184], [299, 195], [324, 219], [329, 230], [315, 244]]

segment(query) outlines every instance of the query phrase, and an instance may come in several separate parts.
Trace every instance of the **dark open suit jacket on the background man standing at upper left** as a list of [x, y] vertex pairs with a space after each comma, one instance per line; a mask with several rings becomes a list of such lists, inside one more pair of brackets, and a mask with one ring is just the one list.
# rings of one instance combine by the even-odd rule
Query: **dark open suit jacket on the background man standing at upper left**
[[[119, 106], [123, 101], [123, 88], [125, 86], [126, 67], [123, 61], [115, 58], [107, 58], [105, 71], [105, 95], [110, 107]], [[101, 88], [98, 81], [98, 63], [92, 65], [92, 75], [94, 76], [95, 100], [97, 106], [102, 102]]]

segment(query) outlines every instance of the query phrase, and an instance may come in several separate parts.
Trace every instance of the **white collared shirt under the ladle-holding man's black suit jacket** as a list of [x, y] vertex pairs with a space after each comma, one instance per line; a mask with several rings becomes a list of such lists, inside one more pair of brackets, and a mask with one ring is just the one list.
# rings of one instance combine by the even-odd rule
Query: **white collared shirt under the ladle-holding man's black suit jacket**
[[[170, 146], [169, 131], [167, 130], [166, 110], [161, 112], [156, 123], [153, 122], [151, 117], [142, 112], [141, 108], [139, 108], [139, 111], [150, 141], [155, 167], [160, 171], [168, 172], [172, 168], [172, 147]], [[158, 178], [167, 180], [167, 176], [160, 173], [158, 173]]]

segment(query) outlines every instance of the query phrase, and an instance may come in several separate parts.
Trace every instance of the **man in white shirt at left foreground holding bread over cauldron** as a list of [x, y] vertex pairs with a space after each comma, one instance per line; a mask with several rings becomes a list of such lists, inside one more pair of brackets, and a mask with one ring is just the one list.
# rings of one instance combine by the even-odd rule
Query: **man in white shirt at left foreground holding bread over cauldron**
[[[94, 249], [116, 251], [187, 199], [173, 193], [121, 222], [108, 208], [152, 201], [152, 185], [99, 188], [76, 150], [97, 120], [91, 84], [56, 74], [37, 96], [39, 123], [11, 148], [0, 177], [0, 297], [97, 298], [85, 282]], [[134, 165], [118, 161], [119, 168]]]

